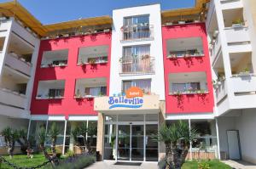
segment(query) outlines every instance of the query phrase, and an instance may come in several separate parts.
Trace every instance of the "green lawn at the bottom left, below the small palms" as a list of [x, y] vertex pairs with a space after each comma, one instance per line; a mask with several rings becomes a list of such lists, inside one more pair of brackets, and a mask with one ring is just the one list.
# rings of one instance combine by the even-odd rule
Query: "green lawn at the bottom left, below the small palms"
[[[32, 159], [28, 159], [26, 155], [14, 155], [13, 159], [10, 160], [8, 155], [4, 155], [4, 158], [20, 167], [32, 167], [32, 166], [38, 166], [40, 164], [43, 164], [46, 160], [44, 158], [44, 155], [38, 154], [34, 155]], [[12, 169], [12, 167], [9, 167], [5, 164], [1, 164], [1, 169]]]

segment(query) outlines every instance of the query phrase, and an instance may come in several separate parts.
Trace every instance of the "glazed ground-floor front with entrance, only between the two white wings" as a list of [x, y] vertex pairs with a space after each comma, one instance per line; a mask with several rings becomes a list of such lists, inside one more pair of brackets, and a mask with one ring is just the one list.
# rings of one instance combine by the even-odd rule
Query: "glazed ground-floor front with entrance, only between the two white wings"
[[[136, 113], [136, 110], [122, 114], [111, 113], [98, 116], [47, 116], [32, 115], [29, 122], [29, 137], [36, 137], [39, 129], [44, 127], [46, 132], [55, 123], [59, 128], [57, 149], [65, 154], [73, 151], [82, 153], [84, 139], [88, 140], [91, 149], [98, 151], [102, 160], [106, 161], [160, 161], [165, 155], [165, 144], [158, 143], [152, 138], [158, 133], [161, 124], [172, 125], [178, 121], [159, 113]], [[218, 159], [217, 123], [214, 118], [182, 119], [190, 128], [196, 128], [198, 136], [191, 142], [187, 159]], [[73, 130], [85, 124], [94, 126], [94, 133], [78, 134]], [[50, 142], [46, 146], [50, 146]], [[37, 149], [36, 141], [33, 143]], [[225, 155], [223, 155], [225, 156]]]

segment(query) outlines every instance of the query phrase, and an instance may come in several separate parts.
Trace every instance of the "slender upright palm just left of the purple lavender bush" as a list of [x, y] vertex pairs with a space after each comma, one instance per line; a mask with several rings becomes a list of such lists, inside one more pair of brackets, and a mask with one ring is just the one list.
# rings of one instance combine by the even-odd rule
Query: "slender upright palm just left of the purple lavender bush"
[[51, 151], [53, 155], [56, 155], [56, 140], [59, 132], [60, 132], [59, 128], [56, 126], [56, 123], [53, 122], [48, 132], [49, 139], [51, 140]]

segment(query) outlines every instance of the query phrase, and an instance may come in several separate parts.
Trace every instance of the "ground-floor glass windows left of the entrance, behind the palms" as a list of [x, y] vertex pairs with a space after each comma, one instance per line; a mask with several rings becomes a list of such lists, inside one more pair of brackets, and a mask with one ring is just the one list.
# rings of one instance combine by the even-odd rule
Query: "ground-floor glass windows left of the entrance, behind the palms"
[[[75, 154], [81, 154], [84, 151], [84, 140], [90, 144], [92, 152], [96, 152], [96, 127], [97, 121], [31, 121], [29, 129], [29, 137], [32, 139], [32, 147], [34, 150], [38, 150], [37, 147], [37, 136], [41, 127], [44, 127], [47, 135], [49, 136], [50, 127], [55, 123], [59, 134], [56, 140], [56, 149], [59, 152], [67, 153], [68, 150], [72, 150]], [[85, 124], [87, 127], [93, 128], [91, 132], [86, 132], [86, 136], [79, 134], [74, 138], [73, 130], [80, 125]], [[66, 126], [66, 128], [65, 128]], [[65, 132], [66, 131], [66, 132]], [[65, 140], [64, 140], [65, 138]], [[47, 140], [45, 143], [46, 147], [50, 148], [51, 140]]]

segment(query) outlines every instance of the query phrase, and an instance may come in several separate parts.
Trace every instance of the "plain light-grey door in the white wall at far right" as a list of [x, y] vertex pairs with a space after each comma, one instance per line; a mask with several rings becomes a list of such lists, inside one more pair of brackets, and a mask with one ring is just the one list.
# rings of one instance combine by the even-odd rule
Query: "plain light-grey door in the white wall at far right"
[[239, 133], [236, 130], [227, 131], [228, 135], [228, 145], [229, 145], [229, 155], [232, 160], [240, 160], [240, 144], [239, 144]]

